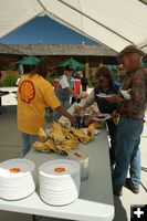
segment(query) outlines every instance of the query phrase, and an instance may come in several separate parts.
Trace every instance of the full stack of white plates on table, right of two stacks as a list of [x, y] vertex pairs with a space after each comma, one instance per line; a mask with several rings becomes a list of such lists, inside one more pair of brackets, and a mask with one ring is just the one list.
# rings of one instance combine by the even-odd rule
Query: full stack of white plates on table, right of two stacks
[[80, 194], [80, 165], [69, 159], [43, 164], [39, 169], [40, 197], [52, 206], [75, 201]]

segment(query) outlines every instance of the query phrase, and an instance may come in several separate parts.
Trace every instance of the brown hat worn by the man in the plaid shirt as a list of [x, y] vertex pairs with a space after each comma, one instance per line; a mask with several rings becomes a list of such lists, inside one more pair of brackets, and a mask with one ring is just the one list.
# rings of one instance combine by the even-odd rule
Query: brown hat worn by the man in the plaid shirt
[[124, 55], [126, 54], [134, 54], [134, 53], [137, 53], [139, 54], [140, 56], [145, 56], [145, 52], [143, 52], [140, 49], [138, 49], [136, 45], [128, 45], [126, 46], [124, 50], [122, 50], [118, 55], [117, 55], [117, 61], [119, 63], [122, 63], [122, 59]]

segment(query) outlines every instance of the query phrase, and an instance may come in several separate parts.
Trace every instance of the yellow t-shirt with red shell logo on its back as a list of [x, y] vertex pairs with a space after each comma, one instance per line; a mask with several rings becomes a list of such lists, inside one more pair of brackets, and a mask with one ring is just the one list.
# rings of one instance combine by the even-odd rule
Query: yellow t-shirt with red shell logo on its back
[[40, 127], [44, 127], [45, 107], [60, 105], [53, 86], [39, 74], [22, 76], [18, 88], [18, 129], [38, 135]]

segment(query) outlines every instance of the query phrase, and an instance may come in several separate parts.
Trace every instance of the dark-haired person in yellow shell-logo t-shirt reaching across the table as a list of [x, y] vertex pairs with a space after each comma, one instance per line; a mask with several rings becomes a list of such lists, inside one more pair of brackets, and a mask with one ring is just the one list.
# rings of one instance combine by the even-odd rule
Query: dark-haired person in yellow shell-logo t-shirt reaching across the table
[[22, 133], [22, 156], [38, 140], [40, 127], [44, 127], [46, 106], [70, 118], [72, 124], [75, 123], [75, 118], [61, 106], [52, 85], [45, 80], [51, 67], [51, 61], [44, 57], [33, 72], [23, 75], [19, 82], [18, 129]]

